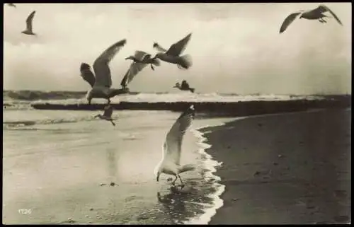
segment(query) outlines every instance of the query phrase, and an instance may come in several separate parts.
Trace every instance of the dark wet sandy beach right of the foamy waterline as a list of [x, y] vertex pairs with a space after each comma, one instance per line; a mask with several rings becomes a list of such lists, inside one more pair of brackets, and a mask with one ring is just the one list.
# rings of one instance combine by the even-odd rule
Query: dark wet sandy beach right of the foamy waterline
[[350, 115], [260, 115], [203, 129], [226, 185], [210, 224], [350, 223]]

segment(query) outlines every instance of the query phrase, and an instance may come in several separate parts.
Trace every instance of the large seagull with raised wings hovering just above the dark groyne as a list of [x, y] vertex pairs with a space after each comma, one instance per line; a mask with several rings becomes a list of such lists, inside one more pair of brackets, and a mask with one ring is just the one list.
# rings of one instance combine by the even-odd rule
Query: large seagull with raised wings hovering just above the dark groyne
[[89, 64], [81, 63], [81, 77], [91, 86], [91, 90], [86, 95], [89, 104], [91, 104], [92, 98], [105, 98], [108, 100], [108, 104], [110, 104], [110, 98], [115, 95], [129, 92], [129, 88], [110, 88], [110, 86], [112, 86], [112, 78], [110, 75], [109, 63], [126, 42], [127, 40], [115, 42], [115, 44], [108, 47], [108, 49], [105, 50], [95, 62], [93, 62], [93, 71], [95, 72], [96, 77], [91, 71]]

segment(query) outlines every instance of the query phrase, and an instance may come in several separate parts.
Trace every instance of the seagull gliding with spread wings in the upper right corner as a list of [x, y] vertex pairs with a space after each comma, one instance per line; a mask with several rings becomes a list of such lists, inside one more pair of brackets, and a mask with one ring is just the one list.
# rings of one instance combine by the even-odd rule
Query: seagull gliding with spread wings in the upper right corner
[[307, 20], [319, 20], [319, 22], [321, 23], [327, 23], [327, 21], [325, 21], [324, 18], [331, 18], [331, 17], [323, 14], [326, 12], [331, 13], [331, 15], [336, 19], [336, 21], [338, 21], [340, 25], [343, 25], [341, 20], [339, 20], [339, 18], [336, 16], [335, 13], [333, 13], [333, 11], [331, 11], [331, 9], [329, 9], [324, 4], [321, 4], [317, 8], [314, 8], [309, 11], [302, 10], [302, 11], [297, 11], [296, 13], [291, 13], [289, 16], [287, 16], [287, 18], [285, 18], [285, 21], [282, 23], [282, 26], [280, 28], [280, 33], [283, 33], [285, 29], [287, 29], [287, 27], [290, 25], [290, 23], [292, 23], [295, 20], [295, 18], [297, 18], [297, 16], [299, 15], [301, 15], [299, 16], [300, 19], [305, 18]]

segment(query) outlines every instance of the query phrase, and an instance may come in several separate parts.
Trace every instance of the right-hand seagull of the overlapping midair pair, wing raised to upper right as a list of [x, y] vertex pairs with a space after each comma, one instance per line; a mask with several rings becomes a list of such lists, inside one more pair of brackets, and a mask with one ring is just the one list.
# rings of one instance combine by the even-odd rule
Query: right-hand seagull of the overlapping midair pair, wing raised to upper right
[[169, 62], [171, 64], [177, 64], [179, 69], [189, 69], [192, 66], [192, 58], [189, 54], [182, 55], [182, 52], [185, 50], [192, 33], [189, 33], [182, 40], [179, 40], [175, 44], [171, 45], [169, 50], [161, 47], [157, 42], [154, 42], [153, 47], [159, 51], [155, 55], [154, 59], [161, 59], [164, 62]]

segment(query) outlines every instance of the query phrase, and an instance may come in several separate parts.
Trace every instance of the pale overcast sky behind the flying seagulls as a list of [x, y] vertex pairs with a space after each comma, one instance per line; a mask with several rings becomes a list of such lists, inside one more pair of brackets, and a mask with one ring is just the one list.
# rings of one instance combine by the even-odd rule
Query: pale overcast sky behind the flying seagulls
[[[131, 91], [175, 91], [186, 79], [202, 93], [351, 93], [351, 4], [327, 3], [341, 19], [328, 23], [300, 19], [279, 34], [292, 12], [316, 8], [294, 4], [17, 4], [4, 5], [4, 89], [87, 91], [81, 62], [127, 39], [110, 63], [113, 87], [120, 88], [130, 61], [154, 42], [169, 48], [193, 33], [184, 54], [188, 70], [162, 62], [146, 67]], [[23, 35], [25, 19], [37, 11], [33, 30]]]

